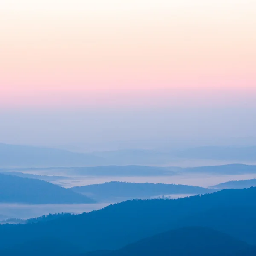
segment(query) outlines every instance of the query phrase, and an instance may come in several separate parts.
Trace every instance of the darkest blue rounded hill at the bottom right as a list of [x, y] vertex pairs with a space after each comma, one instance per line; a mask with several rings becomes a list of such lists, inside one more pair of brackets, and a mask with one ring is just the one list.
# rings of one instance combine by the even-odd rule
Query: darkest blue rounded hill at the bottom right
[[91, 252], [84, 256], [232, 256], [252, 248], [209, 228], [186, 227], [142, 239], [116, 251]]

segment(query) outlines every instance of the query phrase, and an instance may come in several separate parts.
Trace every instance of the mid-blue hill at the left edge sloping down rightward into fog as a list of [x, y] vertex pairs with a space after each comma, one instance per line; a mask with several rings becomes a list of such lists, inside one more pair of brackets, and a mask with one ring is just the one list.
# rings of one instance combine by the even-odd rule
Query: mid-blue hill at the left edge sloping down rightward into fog
[[0, 173], [0, 202], [28, 204], [81, 204], [94, 201], [52, 183]]

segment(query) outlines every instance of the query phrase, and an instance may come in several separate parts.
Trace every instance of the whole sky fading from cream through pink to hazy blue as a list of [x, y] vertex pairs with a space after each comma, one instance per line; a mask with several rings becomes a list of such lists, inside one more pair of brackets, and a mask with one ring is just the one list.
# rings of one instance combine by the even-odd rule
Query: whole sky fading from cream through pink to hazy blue
[[0, 0], [0, 141], [256, 137], [255, 31], [255, 0]]

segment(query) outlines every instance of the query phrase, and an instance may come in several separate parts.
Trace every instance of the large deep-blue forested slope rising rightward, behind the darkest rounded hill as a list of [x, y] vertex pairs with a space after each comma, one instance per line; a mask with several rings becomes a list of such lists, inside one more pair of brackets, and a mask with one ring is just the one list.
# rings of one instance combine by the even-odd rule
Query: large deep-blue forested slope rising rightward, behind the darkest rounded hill
[[255, 198], [255, 187], [224, 189], [177, 200], [130, 200], [44, 223], [1, 225], [0, 250], [50, 238], [76, 244], [84, 252], [119, 250], [157, 233], [192, 226], [256, 244]]

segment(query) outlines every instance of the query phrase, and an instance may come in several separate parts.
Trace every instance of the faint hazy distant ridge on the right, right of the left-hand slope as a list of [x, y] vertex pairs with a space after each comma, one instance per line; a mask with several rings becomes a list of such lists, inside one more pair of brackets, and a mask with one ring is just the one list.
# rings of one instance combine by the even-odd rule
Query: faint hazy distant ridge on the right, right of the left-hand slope
[[255, 161], [256, 146], [205, 146], [185, 148], [183, 150], [155, 151], [129, 149], [93, 152], [92, 154], [108, 159], [112, 164], [164, 164], [173, 160], [207, 159], [226, 161]]

